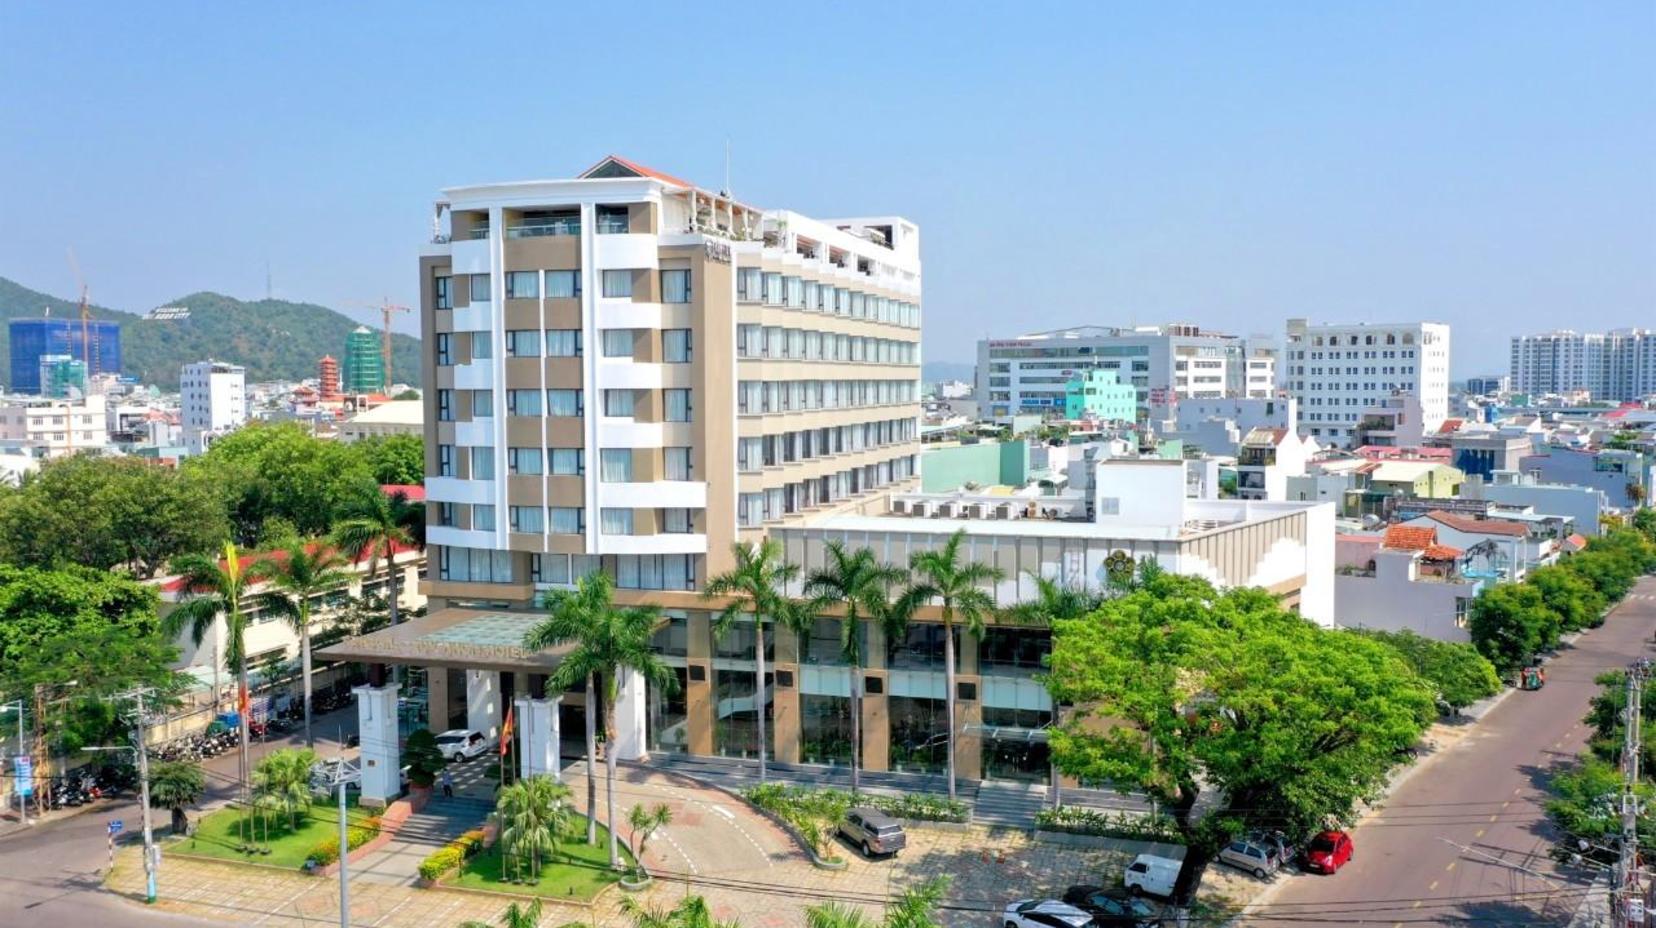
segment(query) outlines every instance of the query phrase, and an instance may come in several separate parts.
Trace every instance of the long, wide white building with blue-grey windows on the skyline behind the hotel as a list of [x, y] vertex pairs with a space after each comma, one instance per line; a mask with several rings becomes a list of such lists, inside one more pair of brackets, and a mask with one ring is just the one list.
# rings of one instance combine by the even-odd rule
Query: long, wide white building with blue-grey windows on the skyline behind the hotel
[[1138, 408], [1179, 399], [1270, 396], [1275, 351], [1264, 340], [1202, 331], [1194, 325], [1076, 326], [977, 343], [982, 414], [1063, 413], [1065, 384], [1083, 371], [1114, 371], [1138, 393]]

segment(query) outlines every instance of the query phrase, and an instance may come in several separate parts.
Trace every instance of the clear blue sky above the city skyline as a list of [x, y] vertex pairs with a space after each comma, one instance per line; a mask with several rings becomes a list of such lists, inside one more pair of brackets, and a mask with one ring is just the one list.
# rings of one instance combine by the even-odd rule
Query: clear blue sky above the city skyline
[[[1656, 3], [0, 3], [0, 275], [414, 298], [614, 151], [921, 224], [926, 356], [1075, 323], [1656, 325]], [[364, 317], [366, 318], [366, 317]]]

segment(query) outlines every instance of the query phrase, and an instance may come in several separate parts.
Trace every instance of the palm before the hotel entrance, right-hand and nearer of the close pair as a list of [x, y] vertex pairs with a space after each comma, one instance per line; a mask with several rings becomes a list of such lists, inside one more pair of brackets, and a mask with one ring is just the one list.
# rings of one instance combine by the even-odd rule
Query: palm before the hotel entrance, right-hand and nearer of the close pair
[[575, 650], [565, 655], [558, 669], [551, 673], [548, 683], [558, 691], [568, 689], [583, 679], [599, 679], [604, 686], [604, 787], [608, 789], [609, 814], [609, 868], [621, 868], [621, 845], [616, 835], [616, 741], [621, 732], [616, 726], [616, 699], [621, 696], [621, 674], [638, 673], [646, 684], [661, 689], [677, 686], [677, 678], [656, 656], [651, 648], [651, 636], [661, 623], [661, 607], [614, 605], [614, 583], [603, 572], [591, 572], [581, 577], [573, 592], [578, 607], [565, 608], [565, 600], [571, 597], [551, 597], [555, 605], [548, 608], [546, 620], [523, 636], [523, 646], [540, 651], [556, 645], [575, 643]]

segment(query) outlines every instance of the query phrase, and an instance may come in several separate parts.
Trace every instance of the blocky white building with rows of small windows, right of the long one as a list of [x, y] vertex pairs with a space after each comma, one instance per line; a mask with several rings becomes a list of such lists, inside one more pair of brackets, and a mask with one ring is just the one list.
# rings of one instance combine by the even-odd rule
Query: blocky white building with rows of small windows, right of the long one
[[1423, 428], [1449, 418], [1449, 325], [1318, 323], [1290, 318], [1280, 381], [1300, 401], [1300, 434], [1323, 444], [1350, 441], [1363, 411], [1409, 393]]

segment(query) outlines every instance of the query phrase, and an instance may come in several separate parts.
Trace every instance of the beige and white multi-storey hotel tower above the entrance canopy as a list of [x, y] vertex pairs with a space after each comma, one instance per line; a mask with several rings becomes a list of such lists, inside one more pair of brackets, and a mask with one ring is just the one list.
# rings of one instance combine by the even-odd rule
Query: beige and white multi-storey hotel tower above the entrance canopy
[[694, 603], [732, 542], [916, 482], [914, 224], [760, 210], [619, 157], [437, 209], [434, 608], [532, 608], [591, 570]]

